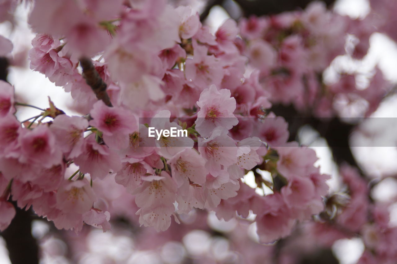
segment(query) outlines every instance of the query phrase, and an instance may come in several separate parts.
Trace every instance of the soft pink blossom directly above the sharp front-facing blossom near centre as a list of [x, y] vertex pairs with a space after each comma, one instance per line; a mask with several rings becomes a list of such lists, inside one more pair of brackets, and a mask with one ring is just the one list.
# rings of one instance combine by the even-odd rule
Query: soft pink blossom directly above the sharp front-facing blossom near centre
[[205, 46], [193, 44], [193, 47], [193, 59], [186, 59], [186, 78], [202, 89], [211, 84], [219, 87], [224, 75], [220, 61], [214, 55], [207, 55]]

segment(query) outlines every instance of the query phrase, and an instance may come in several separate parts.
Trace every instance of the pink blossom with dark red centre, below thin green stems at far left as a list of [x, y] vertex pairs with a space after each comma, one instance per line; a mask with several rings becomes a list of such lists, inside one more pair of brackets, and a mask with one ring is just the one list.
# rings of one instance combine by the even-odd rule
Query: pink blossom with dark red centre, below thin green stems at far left
[[33, 130], [22, 130], [19, 136], [21, 162], [33, 162], [46, 168], [60, 164], [62, 152], [56, 144], [54, 134], [48, 126], [37, 126]]

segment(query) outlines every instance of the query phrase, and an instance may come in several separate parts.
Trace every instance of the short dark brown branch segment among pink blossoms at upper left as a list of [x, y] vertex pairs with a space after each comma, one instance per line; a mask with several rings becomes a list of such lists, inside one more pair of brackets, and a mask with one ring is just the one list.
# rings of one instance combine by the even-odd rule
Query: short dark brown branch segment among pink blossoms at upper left
[[80, 66], [83, 69], [83, 77], [85, 78], [85, 82], [87, 82], [91, 89], [93, 89], [96, 98], [98, 98], [98, 100], [102, 100], [105, 105], [112, 107], [112, 102], [110, 101], [109, 95], [106, 92], [107, 85], [99, 76], [99, 73], [96, 71], [92, 60], [87, 57], [81, 57]]

